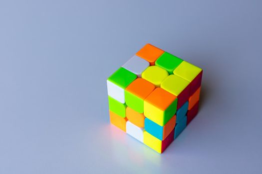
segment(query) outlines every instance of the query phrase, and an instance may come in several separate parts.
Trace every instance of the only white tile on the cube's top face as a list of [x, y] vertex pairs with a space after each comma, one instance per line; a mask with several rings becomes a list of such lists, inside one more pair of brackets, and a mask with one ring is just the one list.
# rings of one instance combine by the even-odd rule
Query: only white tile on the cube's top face
[[147, 67], [149, 67], [149, 65], [149, 62], [147, 62], [146, 60], [138, 56], [133, 56], [122, 67], [134, 73], [135, 75], [137, 75], [137, 77], [141, 77], [141, 74]]

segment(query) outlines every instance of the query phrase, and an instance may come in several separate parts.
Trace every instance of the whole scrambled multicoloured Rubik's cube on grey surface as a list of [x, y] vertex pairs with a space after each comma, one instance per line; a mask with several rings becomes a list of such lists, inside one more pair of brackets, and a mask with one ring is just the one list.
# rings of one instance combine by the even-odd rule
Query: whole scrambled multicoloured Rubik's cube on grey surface
[[198, 113], [202, 72], [146, 44], [107, 79], [110, 122], [164, 152]]

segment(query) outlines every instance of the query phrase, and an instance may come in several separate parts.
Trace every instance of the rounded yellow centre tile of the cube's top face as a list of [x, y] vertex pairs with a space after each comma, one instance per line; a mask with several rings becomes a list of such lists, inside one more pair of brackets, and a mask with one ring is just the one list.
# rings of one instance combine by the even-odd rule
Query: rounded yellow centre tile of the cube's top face
[[156, 87], [160, 87], [163, 80], [167, 77], [168, 72], [158, 66], [150, 66], [142, 73], [142, 78], [151, 82]]

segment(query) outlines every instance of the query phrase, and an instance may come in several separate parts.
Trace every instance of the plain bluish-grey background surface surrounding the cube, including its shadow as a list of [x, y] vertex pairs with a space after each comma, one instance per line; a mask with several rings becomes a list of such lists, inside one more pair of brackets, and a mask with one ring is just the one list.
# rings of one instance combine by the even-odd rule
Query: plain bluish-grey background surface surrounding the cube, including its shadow
[[[0, 174], [261, 174], [261, 0], [1, 0]], [[159, 155], [109, 124], [106, 79], [152, 43], [204, 69]]]

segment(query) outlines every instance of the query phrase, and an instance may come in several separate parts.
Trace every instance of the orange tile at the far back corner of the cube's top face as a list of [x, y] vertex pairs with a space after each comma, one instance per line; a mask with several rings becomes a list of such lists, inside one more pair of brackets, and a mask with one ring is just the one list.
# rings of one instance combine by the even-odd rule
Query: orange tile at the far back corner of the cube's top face
[[155, 65], [155, 61], [164, 53], [163, 50], [151, 45], [146, 44], [136, 55], [145, 59], [150, 65]]

